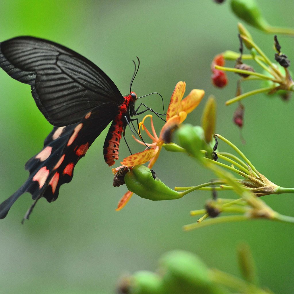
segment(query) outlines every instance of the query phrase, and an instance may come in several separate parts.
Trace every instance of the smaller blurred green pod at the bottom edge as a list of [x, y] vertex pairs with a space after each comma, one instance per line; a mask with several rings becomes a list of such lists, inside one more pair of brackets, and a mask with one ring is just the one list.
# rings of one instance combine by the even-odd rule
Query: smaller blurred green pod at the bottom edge
[[135, 273], [132, 277], [133, 286], [130, 287], [130, 294], [162, 294], [163, 285], [161, 277], [156, 273], [142, 270]]

